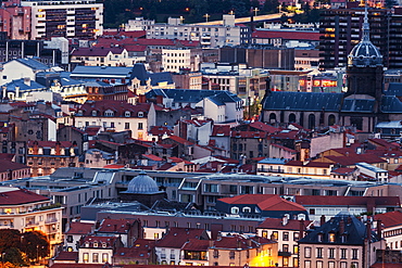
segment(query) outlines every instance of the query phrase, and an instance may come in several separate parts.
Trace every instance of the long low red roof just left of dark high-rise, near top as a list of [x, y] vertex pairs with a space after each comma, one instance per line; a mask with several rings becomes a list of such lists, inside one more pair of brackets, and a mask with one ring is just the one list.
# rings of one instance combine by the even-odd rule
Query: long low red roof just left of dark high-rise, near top
[[285, 40], [312, 40], [319, 41], [322, 34], [316, 31], [301, 30], [255, 30], [252, 33], [252, 38], [281, 38]]

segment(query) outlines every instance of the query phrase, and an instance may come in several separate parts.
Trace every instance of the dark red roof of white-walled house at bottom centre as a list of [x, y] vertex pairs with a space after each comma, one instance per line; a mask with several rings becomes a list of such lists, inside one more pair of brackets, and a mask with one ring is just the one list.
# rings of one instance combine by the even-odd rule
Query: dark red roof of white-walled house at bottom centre
[[171, 228], [168, 232], [156, 242], [156, 247], [181, 248], [189, 239], [201, 239], [205, 230], [192, 228]]

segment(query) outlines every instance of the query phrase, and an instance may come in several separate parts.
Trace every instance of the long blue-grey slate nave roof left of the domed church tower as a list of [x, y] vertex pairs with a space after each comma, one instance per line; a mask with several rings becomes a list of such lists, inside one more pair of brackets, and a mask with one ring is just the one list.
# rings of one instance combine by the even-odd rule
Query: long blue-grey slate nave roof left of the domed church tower
[[339, 112], [342, 93], [272, 91], [263, 101], [264, 110]]

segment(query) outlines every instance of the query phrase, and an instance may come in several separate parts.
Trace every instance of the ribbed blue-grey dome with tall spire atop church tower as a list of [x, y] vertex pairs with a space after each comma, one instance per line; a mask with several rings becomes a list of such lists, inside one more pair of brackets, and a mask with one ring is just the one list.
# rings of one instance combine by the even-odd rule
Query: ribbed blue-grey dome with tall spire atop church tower
[[350, 52], [348, 56], [348, 65], [356, 67], [375, 67], [377, 65], [382, 65], [381, 53], [369, 40], [367, 10], [364, 15], [362, 40]]

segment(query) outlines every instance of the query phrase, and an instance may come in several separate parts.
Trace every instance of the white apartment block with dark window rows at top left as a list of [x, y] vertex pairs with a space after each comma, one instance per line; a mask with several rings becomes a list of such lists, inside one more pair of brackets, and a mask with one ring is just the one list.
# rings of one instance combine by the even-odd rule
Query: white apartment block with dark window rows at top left
[[103, 34], [103, 4], [88, 1], [22, 1], [32, 10], [30, 39], [92, 39]]

